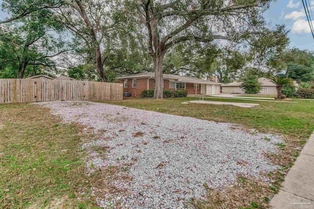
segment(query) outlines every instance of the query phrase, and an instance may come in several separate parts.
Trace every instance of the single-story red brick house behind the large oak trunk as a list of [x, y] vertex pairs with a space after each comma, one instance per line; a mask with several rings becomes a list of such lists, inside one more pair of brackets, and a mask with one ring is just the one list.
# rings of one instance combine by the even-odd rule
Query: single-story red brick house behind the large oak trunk
[[[155, 73], [142, 72], [118, 77], [123, 83], [123, 92], [130, 92], [131, 96], [139, 97], [144, 90], [155, 88]], [[219, 94], [221, 83], [200, 78], [163, 74], [164, 90], [186, 90], [188, 94]]]

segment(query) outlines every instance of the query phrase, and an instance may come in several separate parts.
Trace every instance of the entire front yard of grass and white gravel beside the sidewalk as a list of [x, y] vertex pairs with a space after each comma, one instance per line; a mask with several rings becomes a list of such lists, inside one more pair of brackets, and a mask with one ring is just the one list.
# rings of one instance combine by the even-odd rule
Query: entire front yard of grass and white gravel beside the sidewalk
[[0, 207], [267, 208], [314, 130], [314, 101], [181, 104], [195, 99], [104, 101], [176, 116], [88, 102], [0, 105]]

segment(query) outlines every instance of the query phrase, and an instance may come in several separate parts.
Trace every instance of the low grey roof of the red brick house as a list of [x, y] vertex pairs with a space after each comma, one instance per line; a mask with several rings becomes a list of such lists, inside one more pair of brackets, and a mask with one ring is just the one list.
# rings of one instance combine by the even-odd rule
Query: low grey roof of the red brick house
[[[122, 77], [118, 77], [117, 79], [128, 79], [128, 78], [155, 78], [154, 72], [141, 72], [131, 75], [126, 75]], [[222, 84], [218, 82], [213, 82], [209, 80], [204, 80], [201, 78], [194, 78], [189, 76], [181, 76], [181, 75], [171, 75], [171, 74], [163, 74], [163, 78], [176, 81], [176, 82], [185, 82], [185, 83], [198, 83], [198, 84]]]

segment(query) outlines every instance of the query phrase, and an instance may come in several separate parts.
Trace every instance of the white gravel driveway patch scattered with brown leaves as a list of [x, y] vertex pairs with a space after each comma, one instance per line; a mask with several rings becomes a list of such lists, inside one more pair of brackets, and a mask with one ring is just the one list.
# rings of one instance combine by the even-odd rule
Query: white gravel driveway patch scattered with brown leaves
[[[192, 197], [202, 198], [206, 194], [204, 184], [223, 189], [234, 184], [237, 176], [262, 179], [260, 172], [278, 168], [262, 154], [277, 151], [275, 143], [283, 142], [278, 136], [246, 133], [231, 128], [229, 123], [104, 103], [37, 104], [51, 108], [52, 114], [65, 121], [75, 121], [103, 133], [99, 139], [82, 146], [110, 147], [106, 159], [91, 153], [89, 165], [122, 168], [124, 163], [135, 162], [129, 170], [121, 171], [121, 175], [132, 177], [131, 181], [112, 183], [128, 191], [101, 197], [99, 203], [105, 208], [116, 203], [123, 208], [184, 208]], [[134, 137], [136, 132], [143, 136]]]

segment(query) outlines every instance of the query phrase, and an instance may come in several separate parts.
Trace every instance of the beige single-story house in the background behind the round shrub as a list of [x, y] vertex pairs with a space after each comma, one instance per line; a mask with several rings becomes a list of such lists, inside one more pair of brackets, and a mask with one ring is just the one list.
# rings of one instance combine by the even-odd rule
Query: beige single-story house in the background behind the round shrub
[[[259, 78], [259, 83], [261, 84], [260, 93], [262, 94], [277, 94], [276, 84], [268, 78]], [[244, 93], [244, 88], [241, 88], [243, 82], [232, 82], [229, 84], [222, 85], [222, 93]], [[296, 88], [299, 87], [296, 81], [293, 81]]]

